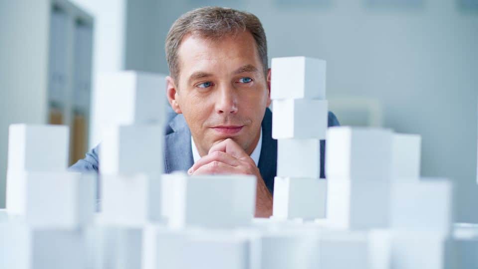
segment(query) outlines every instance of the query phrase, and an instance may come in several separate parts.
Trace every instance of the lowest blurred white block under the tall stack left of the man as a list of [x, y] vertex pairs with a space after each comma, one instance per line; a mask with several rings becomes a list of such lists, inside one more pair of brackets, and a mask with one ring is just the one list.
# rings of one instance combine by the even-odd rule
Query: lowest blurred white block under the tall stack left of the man
[[88, 231], [91, 269], [140, 269], [142, 267], [143, 230], [115, 226], [96, 226]]

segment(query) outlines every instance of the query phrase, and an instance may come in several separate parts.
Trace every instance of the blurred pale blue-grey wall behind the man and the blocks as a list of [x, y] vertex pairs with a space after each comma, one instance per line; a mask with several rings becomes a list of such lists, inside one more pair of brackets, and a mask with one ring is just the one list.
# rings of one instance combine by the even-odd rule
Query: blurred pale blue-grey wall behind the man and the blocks
[[[456, 221], [478, 222], [478, 1], [73, 2], [95, 17], [93, 77], [118, 69], [167, 74], [167, 31], [195, 7], [254, 13], [266, 31], [269, 61], [297, 55], [327, 60], [327, 95], [343, 125], [421, 134], [422, 175], [451, 178]], [[94, 128], [91, 136], [93, 146]], [[0, 206], [2, 185], [0, 177]]]

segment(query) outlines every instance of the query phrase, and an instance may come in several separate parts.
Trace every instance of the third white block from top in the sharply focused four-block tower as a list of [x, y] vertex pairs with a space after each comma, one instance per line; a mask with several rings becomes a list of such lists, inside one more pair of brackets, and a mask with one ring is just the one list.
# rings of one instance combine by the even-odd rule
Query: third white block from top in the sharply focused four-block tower
[[320, 140], [278, 139], [277, 176], [320, 178]]

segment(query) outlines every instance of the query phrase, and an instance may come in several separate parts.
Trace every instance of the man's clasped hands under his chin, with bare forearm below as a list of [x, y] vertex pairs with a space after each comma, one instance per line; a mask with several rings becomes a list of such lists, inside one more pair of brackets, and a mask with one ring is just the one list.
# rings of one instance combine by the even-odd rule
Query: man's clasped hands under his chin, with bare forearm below
[[189, 175], [202, 174], [247, 174], [257, 178], [255, 217], [272, 215], [272, 195], [260, 176], [259, 168], [247, 153], [231, 138], [211, 147], [208, 155], [198, 160], [189, 170]]

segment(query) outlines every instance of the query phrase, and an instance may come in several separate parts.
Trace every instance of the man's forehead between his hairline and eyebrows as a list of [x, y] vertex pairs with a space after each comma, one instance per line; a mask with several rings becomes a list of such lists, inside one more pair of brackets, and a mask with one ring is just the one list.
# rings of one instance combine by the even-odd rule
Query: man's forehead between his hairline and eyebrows
[[248, 31], [219, 39], [185, 35], [178, 60], [181, 80], [196, 71], [226, 72], [245, 64], [261, 67], [255, 40]]

